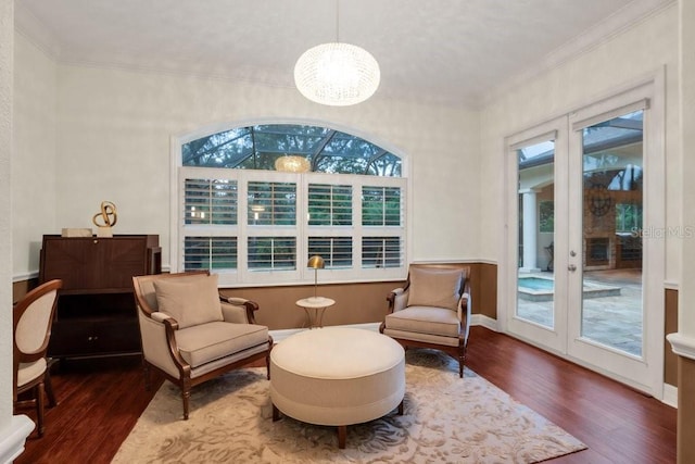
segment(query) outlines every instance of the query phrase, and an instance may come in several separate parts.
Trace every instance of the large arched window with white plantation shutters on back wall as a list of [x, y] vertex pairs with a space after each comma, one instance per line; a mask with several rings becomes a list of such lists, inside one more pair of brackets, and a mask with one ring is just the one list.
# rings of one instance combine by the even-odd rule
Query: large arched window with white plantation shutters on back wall
[[211, 269], [226, 286], [402, 278], [401, 158], [307, 125], [236, 127], [180, 143], [174, 271]]

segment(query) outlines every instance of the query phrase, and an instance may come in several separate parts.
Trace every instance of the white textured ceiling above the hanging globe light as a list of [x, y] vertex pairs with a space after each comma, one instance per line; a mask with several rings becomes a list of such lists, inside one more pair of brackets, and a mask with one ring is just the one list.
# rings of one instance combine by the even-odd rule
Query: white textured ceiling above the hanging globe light
[[15, 17], [63, 63], [287, 87], [338, 30], [379, 62], [377, 98], [476, 105], [671, 1], [17, 0]]

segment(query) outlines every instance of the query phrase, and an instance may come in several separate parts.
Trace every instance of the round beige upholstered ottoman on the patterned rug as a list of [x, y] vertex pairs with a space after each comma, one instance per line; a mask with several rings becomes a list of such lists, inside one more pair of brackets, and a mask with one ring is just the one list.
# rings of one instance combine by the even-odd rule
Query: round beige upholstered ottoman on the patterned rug
[[405, 352], [375, 331], [325, 327], [280, 341], [270, 351], [273, 419], [280, 412], [298, 421], [338, 426], [345, 448], [346, 426], [379, 418], [395, 407], [403, 414]]

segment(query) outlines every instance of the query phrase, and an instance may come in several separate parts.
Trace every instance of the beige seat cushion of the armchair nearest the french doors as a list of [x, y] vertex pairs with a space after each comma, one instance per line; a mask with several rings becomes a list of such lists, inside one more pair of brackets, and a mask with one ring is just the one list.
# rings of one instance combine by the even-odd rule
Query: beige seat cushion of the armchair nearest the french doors
[[444, 308], [408, 306], [386, 317], [386, 328], [442, 337], [458, 337], [458, 314]]

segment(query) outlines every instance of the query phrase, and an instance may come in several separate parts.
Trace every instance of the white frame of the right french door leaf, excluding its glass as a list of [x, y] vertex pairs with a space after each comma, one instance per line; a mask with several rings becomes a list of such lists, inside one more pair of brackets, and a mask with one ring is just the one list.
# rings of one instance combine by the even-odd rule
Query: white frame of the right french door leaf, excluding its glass
[[[569, 115], [570, 156], [578, 168], [570, 175], [570, 201], [581, 204], [582, 129], [644, 109], [643, 121], [643, 230], [665, 230], [665, 162], [662, 111], [655, 83], [646, 83], [615, 97], [604, 99]], [[660, 108], [661, 106], [661, 108]], [[580, 172], [578, 172], [580, 171]], [[581, 256], [582, 225], [577, 215], [570, 220], [570, 247]], [[665, 238], [644, 234], [643, 243], [643, 340], [642, 356], [607, 350], [581, 337], [581, 275], [569, 288], [568, 356], [657, 398], [664, 392], [664, 279]], [[581, 262], [573, 263], [581, 269]], [[581, 274], [581, 273], [578, 273]], [[658, 372], [656, 371], [658, 369]]]

